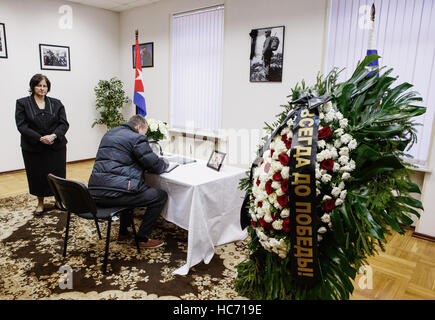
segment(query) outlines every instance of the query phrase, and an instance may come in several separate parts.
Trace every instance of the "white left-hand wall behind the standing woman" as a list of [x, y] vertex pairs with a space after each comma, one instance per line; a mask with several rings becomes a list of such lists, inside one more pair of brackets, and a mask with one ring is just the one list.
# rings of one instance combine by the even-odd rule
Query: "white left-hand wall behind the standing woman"
[[[73, 28], [62, 30], [61, 5], [73, 8]], [[97, 117], [93, 88], [100, 79], [119, 74], [119, 13], [55, 0], [1, 0], [0, 22], [6, 25], [8, 59], [0, 59], [0, 172], [24, 168], [15, 101], [28, 95], [29, 80], [45, 74], [49, 96], [66, 108], [67, 161], [95, 157], [103, 128], [91, 128]], [[41, 70], [39, 43], [70, 47], [71, 71]], [[132, 95], [130, 95], [131, 97]]]

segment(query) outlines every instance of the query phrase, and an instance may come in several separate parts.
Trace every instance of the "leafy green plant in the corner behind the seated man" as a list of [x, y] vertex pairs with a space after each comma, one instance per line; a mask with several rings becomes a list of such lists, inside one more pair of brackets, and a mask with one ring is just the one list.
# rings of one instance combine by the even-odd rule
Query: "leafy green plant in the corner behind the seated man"
[[131, 100], [125, 95], [121, 80], [116, 77], [109, 81], [100, 80], [94, 88], [96, 96], [95, 108], [100, 111], [100, 119], [96, 119], [92, 128], [96, 125], [105, 125], [107, 130], [113, 129], [122, 124], [125, 119], [121, 109]]

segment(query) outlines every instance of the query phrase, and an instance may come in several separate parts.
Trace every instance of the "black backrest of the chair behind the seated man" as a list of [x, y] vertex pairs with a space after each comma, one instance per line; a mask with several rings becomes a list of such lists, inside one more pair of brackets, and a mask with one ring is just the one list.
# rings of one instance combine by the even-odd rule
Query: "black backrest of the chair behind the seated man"
[[[54, 186], [55, 197], [59, 197], [66, 210], [80, 215], [81, 213], [97, 213], [97, 207], [88, 188], [81, 182], [57, 177], [53, 174], [47, 176], [49, 184]], [[56, 197], [56, 200], [57, 200]]]

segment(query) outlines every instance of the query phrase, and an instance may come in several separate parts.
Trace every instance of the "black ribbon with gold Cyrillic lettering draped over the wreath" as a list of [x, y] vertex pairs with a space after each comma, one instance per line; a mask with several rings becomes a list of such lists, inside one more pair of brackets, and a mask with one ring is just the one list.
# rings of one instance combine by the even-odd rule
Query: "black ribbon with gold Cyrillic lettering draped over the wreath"
[[[290, 150], [289, 196], [290, 204], [290, 239], [291, 266], [294, 279], [298, 282], [311, 284], [318, 278], [317, 258], [317, 219], [316, 219], [316, 155], [319, 113], [317, 107], [330, 101], [330, 96], [304, 96], [290, 104], [299, 105], [292, 110], [284, 121], [274, 130], [263, 145], [250, 170], [252, 181], [254, 169], [269, 149], [273, 138], [287, 126], [287, 121], [296, 118], [293, 127], [292, 148]], [[250, 223], [249, 194], [243, 201], [240, 212], [242, 229]]]

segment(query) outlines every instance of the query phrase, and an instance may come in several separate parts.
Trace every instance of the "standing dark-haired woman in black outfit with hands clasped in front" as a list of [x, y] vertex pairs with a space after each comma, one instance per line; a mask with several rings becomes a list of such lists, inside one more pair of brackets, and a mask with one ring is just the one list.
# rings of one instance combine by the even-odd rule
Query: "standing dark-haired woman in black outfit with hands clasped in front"
[[62, 102], [47, 97], [50, 88], [46, 76], [35, 74], [30, 79], [30, 96], [18, 99], [15, 110], [29, 193], [38, 197], [37, 216], [45, 210], [44, 197], [53, 195], [47, 175], [66, 176], [65, 133], [69, 124]]

